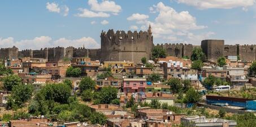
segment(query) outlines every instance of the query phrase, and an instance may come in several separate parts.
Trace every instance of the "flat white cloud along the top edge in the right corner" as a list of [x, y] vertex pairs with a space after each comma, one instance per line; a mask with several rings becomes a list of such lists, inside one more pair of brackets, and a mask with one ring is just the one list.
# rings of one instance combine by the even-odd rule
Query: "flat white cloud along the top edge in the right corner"
[[177, 0], [178, 3], [185, 3], [199, 9], [207, 8], [235, 8], [253, 6], [255, 0]]

